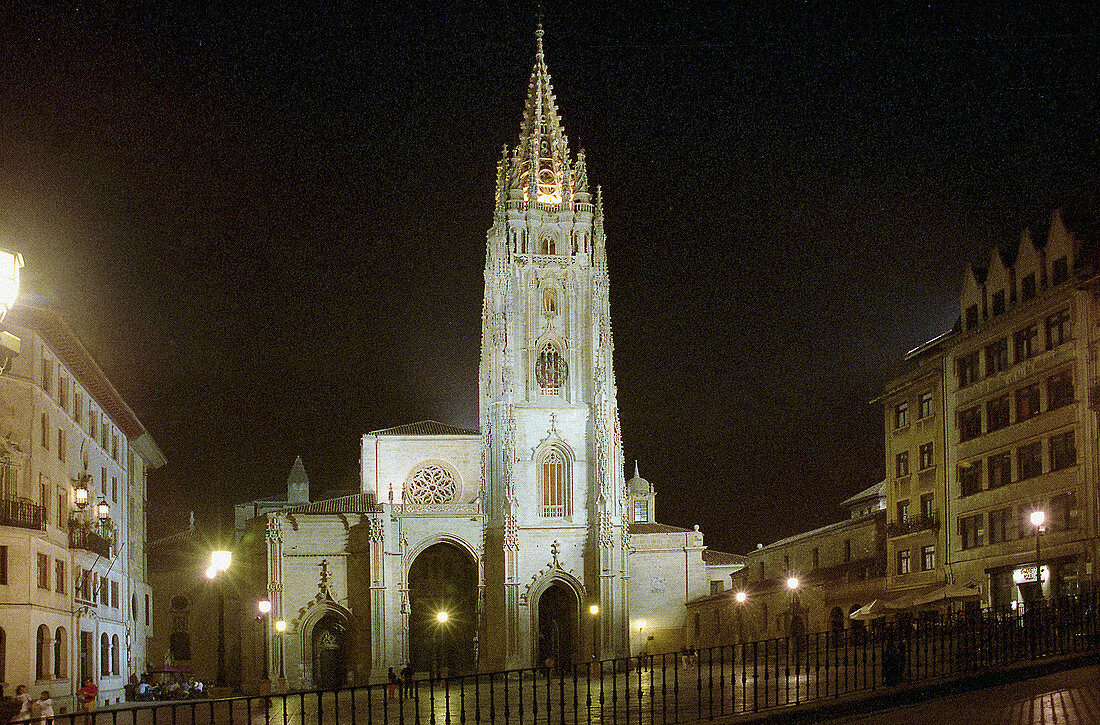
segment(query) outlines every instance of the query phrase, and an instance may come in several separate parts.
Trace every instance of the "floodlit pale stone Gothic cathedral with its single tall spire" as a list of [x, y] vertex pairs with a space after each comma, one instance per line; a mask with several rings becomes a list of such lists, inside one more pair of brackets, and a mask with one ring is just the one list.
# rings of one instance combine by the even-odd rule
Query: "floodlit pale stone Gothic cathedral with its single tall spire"
[[359, 493], [310, 503], [299, 475], [285, 506], [249, 521], [239, 551], [273, 612], [268, 636], [242, 641], [243, 684], [261, 661], [292, 688], [323, 688], [405, 663], [676, 650], [685, 604], [729, 586], [737, 558], [707, 551], [697, 527], [656, 523], [637, 465], [626, 480], [601, 191], [570, 151], [541, 28], [493, 205], [480, 428], [367, 433]]

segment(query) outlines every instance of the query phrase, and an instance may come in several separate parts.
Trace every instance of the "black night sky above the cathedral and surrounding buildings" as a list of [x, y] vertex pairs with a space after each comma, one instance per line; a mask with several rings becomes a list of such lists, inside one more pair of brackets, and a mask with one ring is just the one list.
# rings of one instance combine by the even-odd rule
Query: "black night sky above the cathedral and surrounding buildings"
[[[154, 534], [296, 453], [354, 485], [365, 431], [476, 426], [534, 3], [110, 4], [3, 20], [0, 239], [167, 454]], [[546, 47], [604, 189], [625, 453], [744, 551], [881, 479], [869, 400], [965, 264], [1094, 201], [1100, 22], [727, 4], [547, 2]]]

